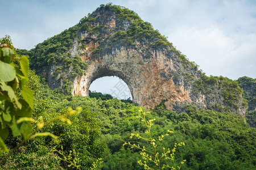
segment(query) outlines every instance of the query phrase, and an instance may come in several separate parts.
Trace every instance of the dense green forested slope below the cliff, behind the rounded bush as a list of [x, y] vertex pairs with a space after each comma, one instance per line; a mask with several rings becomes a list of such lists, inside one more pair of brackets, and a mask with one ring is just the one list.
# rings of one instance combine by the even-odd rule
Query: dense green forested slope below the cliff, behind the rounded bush
[[[140, 152], [135, 148], [123, 148], [123, 141], [148, 146], [143, 140], [130, 138], [130, 134], [142, 134], [145, 126], [136, 118], [139, 107], [122, 103], [120, 100], [96, 100], [95, 98], [73, 96], [56, 105], [56, 111], [67, 106], [76, 108], [87, 105], [97, 113], [102, 135], [108, 141], [109, 152], [102, 158], [102, 169], [142, 169], [137, 162]], [[159, 148], [173, 148], [174, 143], [185, 143], [176, 149], [177, 162], [187, 160], [184, 169], [251, 169], [255, 164], [255, 129], [249, 128], [240, 116], [230, 112], [214, 112], [187, 105], [185, 113], [168, 111], [163, 104], [146, 114], [154, 121], [152, 136], [158, 137], [167, 130], [175, 131], [166, 136]], [[160, 113], [163, 112], [163, 113]], [[159, 114], [160, 113], [160, 114]], [[160, 116], [161, 117], [160, 117]], [[73, 122], [73, 121], [72, 121]], [[156, 139], [156, 138], [155, 138]], [[160, 153], [160, 150], [158, 151]], [[168, 162], [164, 162], [167, 164]], [[151, 165], [151, 164], [149, 164]]]

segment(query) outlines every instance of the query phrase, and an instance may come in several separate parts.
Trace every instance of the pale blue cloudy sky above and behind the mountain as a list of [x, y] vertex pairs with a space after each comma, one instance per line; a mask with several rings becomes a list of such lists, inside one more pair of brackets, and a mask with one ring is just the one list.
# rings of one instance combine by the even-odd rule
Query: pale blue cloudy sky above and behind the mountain
[[[207, 75], [256, 78], [256, 1], [4, 1], [0, 0], [0, 37], [10, 35], [15, 48], [36, 44], [77, 24], [101, 4], [112, 2], [137, 12], [168, 37]], [[96, 80], [97, 81], [97, 80]], [[96, 81], [94, 83], [96, 83]], [[99, 80], [98, 80], [99, 81]], [[118, 79], [105, 78], [102, 92]], [[98, 85], [93, 86], [98, 88]], [[111, 84], [112, 83], [112, 84]], [[91, 89], [96, 90], [97, 89]], [[110, 92], [109, 92], [110, 93]]]

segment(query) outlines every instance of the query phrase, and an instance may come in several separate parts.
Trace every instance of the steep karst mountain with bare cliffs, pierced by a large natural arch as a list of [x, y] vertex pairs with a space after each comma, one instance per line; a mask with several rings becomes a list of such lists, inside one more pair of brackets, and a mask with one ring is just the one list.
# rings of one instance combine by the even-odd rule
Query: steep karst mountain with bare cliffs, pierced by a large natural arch
[[101, 5], [79, 24], [38, 44], [31, 69], [50, 88], [89, 95], [93, 80], [115, 75], [127, 83], [133, 101], [183, 112], [186, 105], [245, 116], [247, 103], [236, 81], [206, 76], [166, 37], [125, 7]]

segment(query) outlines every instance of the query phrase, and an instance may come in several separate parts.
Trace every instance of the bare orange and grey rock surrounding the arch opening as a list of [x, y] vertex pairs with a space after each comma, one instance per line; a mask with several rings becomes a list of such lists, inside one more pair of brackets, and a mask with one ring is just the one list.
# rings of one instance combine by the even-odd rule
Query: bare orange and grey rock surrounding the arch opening
[[175, 85], [171, 77], [160, 75], [172, 69], [172, 59], [160, 51], [152, 52], [151, 56], [144, 58], [138, 50], [121, 47], [98, 58], [85, 58], [89, 67], [86, 74], [73, 83], [72, 94], [88, 96], [94, 80], [118, 76], [129, 87], [133, 101], [146, 108], [153, 108], [162, 100], [167, 103], [191, 101], [184, 87]]

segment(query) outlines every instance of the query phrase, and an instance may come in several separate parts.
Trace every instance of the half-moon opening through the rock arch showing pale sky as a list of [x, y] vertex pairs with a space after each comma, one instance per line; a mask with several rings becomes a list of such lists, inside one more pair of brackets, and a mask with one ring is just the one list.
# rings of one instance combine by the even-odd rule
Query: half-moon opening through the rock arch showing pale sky
[[133, 100], [130, 88], [118, 76], [101, 76], [92, 80], [89, 86], [91, 92], [101, 92], [102, 94], [110, 94], [120, 100]]

